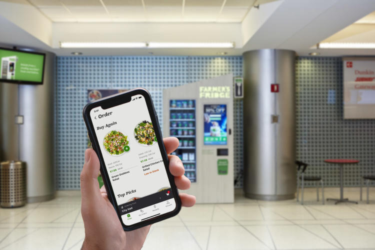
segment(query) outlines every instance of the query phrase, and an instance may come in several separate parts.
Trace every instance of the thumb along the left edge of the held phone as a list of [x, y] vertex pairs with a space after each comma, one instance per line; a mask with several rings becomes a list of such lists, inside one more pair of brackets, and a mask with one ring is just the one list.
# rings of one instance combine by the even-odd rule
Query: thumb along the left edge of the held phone
[[83, 202], [96, 202], [100, 199], [99, 182], [97, 176], [100, 171], [99, 159], [92, 148], [84, 152], [84, 164], [80, 173], [80, 192]]

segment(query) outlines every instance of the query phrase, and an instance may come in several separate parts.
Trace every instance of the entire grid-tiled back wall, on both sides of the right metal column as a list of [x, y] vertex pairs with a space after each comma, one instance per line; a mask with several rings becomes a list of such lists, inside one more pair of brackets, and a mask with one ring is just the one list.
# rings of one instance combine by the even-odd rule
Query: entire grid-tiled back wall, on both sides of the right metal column
[[[375, 120], [342, 119], [342, 65], [338, 57], [296, 58], [297, 158], [308, 174], [338, 185], [337, 167], [325, 158], [357, 158], [345, 167], [345, 185], [375, 174]], [[232, 72], [242, 75], [241, 56], [59, 56], [57, 57], [57, 188], [79, 188], [86, 148], [82, 107], [87, 89], [145, 87], [162, 119], [162, 89]], [[162, 120], [160, 120], [162, 124]], [[242, 101], [234, 103], [234, 176], [242, 186]]]

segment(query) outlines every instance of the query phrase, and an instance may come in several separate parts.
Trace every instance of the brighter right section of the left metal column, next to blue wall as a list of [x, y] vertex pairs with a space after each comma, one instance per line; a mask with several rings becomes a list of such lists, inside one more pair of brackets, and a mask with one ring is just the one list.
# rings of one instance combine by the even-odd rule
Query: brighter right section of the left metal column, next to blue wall
[[55, 195], [54, 71], [55, 54], [45, 52], [42, 85], [19, 86], [19, 159], [27, 163], [27, 202]]

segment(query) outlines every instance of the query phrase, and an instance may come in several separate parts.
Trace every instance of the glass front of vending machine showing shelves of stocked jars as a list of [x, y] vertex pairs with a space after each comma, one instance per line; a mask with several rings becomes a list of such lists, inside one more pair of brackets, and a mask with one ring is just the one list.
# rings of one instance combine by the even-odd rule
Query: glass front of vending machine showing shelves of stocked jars
[[173, 99], [169, 101], [169, 132], [179, 139], [177, 155], [185, 167], [185, 176], [196, 182], [195, 100]]

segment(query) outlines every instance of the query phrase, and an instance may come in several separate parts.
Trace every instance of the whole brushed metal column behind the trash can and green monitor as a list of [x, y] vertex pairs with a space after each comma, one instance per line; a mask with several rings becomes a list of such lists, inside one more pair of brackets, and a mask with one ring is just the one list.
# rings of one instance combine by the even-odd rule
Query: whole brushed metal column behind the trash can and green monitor
[[[41, 85], [0, 83], [0, 160], [26, 162], [27, 202], [55, 195], [55, 54], [45, 53]], [[19, 119], [22, 122], [16, 124]]]

